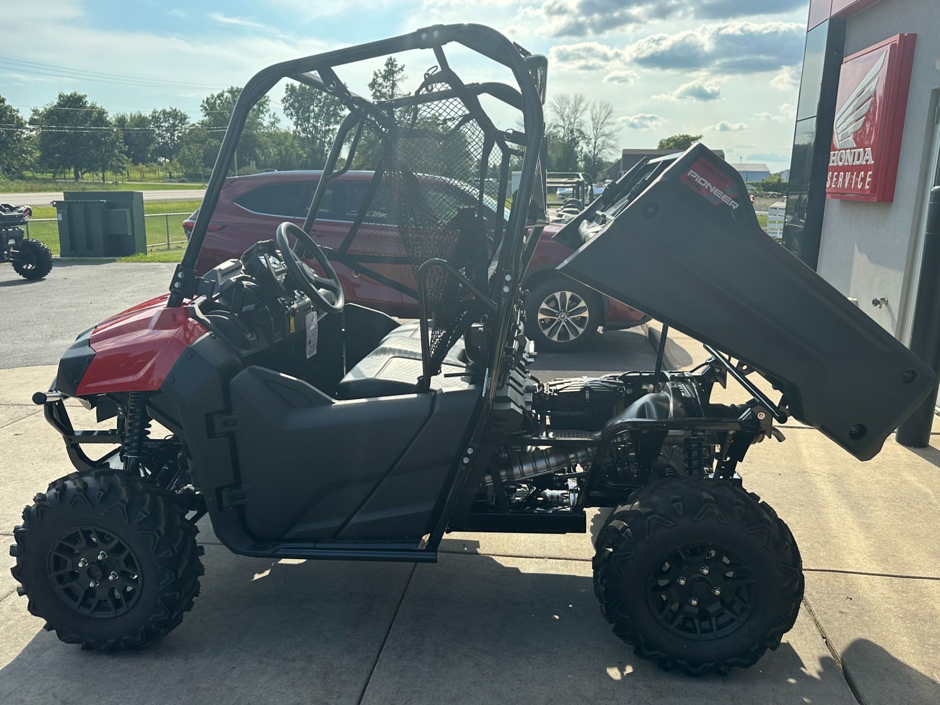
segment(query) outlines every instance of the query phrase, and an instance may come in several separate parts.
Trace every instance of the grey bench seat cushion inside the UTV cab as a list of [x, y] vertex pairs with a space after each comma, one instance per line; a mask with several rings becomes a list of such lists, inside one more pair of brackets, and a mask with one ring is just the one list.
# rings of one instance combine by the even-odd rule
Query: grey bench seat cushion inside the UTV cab
[[[466, 368], [463, 341], [447, 352], [441, 374], [431, 378], [431, 388], [464, 388], [460, 377], [446, 374]], [[421, 363], [421, 329], [417, 321], [400, 325], [369, 352], [337, 384], [337, 399], [369, 399], [411, 394], [423, 372]]]

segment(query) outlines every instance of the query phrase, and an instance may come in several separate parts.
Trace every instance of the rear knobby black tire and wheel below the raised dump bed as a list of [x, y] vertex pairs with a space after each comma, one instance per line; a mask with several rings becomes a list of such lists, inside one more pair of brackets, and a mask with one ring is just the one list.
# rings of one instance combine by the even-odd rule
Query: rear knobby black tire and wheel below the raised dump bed
[[669, 478], [616, 509], [594, 591], [637, 656], [688, 675], [753, 666], [793, 626], [803, 563], [790, 529], [727, 481]]

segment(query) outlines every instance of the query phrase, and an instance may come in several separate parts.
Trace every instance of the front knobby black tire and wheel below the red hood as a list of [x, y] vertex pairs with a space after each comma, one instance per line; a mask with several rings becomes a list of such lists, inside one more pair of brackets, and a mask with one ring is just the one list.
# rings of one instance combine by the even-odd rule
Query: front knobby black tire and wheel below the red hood
[[199, 594], [196, 525], [173, 493], [116, 470], [55, 480], [13, 530], [27, 609], [68, 644], [138, 649], [168, 634]]

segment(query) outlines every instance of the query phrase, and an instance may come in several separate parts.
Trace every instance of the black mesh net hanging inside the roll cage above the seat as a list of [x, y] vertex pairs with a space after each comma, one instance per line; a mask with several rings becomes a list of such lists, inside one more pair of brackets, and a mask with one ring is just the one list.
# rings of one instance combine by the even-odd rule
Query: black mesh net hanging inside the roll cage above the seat
[[[431, 78], [419, 95], [450, 88]], [[415, 297], [421, 279], [430, 370], [437, 374], [446, 353], [478, 320], [478, 308], [445, 268], [430, 266], [420, 277], [418, 270], [429, 259], [444, 259], [487, 290], [493, 227], [503, 218], [488, 192], [498, 191], [493, 178], [499, 178], [503, 151], [493, 149], [493, 139], [457, 97], [399, 107], [390, 117], [394, 123], [382, 130], [381, 180], [371, 198], [366, 195], [366, 211], [343, 245], [344, 257]]]

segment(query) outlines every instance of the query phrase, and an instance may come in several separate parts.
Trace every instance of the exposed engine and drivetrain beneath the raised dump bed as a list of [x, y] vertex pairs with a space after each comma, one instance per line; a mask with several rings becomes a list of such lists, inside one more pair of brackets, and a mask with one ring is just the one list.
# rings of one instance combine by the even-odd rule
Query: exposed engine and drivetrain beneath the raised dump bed
[[528, 428], [497, 448], [480, 499], [493, 508], [505, 496], [515, 509], [570, 509], [595, 462], [598, 477], [620, 498], [658, 478], [704, 471], [718, 451], [716, 439], [686, 431], [617, 433], [597, 457], [615, 422], [702, 416], [701, 382], [669, 373], [654, 384], [652, 372], [627, 372], [535, 384]]

